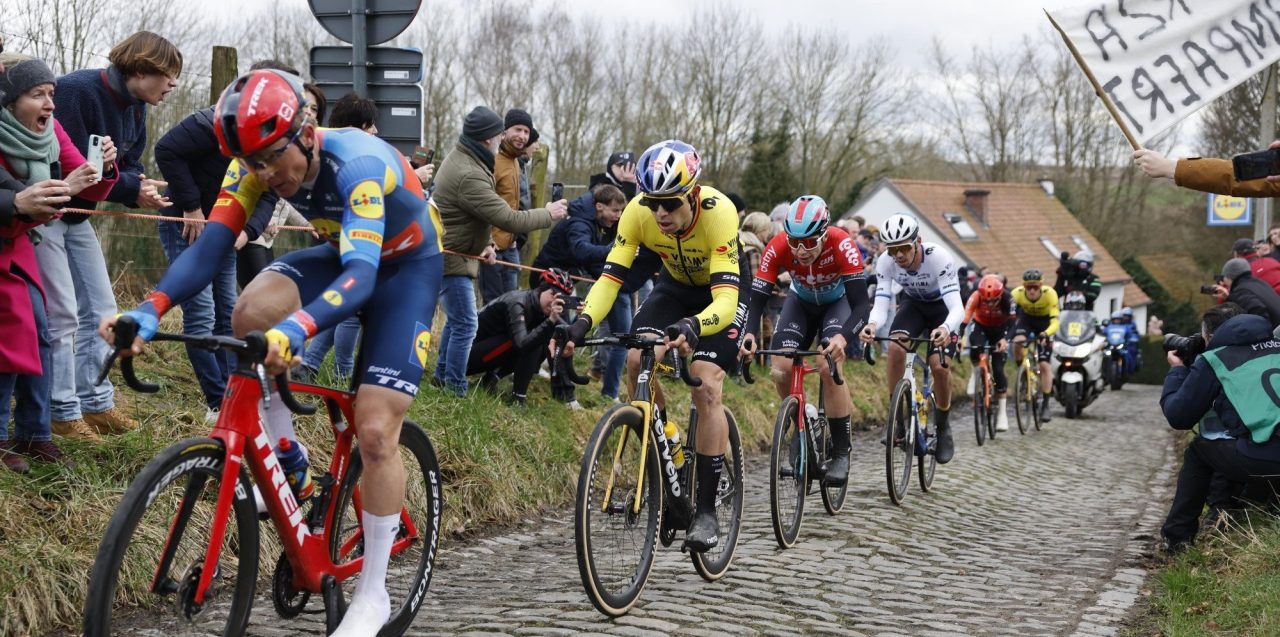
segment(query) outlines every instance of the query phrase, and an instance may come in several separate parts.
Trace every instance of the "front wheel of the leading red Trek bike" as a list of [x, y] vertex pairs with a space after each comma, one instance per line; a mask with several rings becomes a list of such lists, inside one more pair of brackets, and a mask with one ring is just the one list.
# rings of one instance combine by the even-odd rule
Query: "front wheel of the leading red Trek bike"
[[[244, 634], [257, 586], [259, 524], [252, 485], [243, 468], [232, 500], [230, 514], [234, 519], [228, 521], [219, 554], [214, 596], [206, 597], [198, 608], [188, 601], [186, 609], [182, 602], [173, 604], [169, 599], [174, 594], [186, 595], [184, 591], [189, 590], [189, 583], [198, 577], [198, 569], [204, 564], [211, 526], [205, 522], [212, 518], [216, 509], [225, 455], [227, 448], [220, 440], [187, 439], [160, 452], [133, 478], [111, 514], [93, 560], [84, 600], [86, 636], [114, 634], [111, 617], [116, 608], [132, 609], [155, 599], [155, 595], [165, 599], [164, 608], [180, 610], [179, 620], [189, 627], [187, 622], [207, 610], [211, 601], [228, 597], [229, 585], [236, 590], [225, 608], [221, 634]], [[186, 513], [179, 509], [179, 504], [188, 505]], [[147, 540], [160, 546], [148, 544]], [[192, 541], [188, 544], [188, 540]], [[129, 551], [131, 546], [138, 546], [138, 550]], [[165, 592], [154, 594], [152, 577], [161, 569], [159, 562], [164, 555], [170, 558], [164, 568]], [[225, 565], [234, 568], [224, 568]], [[187, 615], [188, 611], [192, 614]], [[219, 604], [218, 613], [209, 615], [209, 619], [216, 622], [223, 613]]]

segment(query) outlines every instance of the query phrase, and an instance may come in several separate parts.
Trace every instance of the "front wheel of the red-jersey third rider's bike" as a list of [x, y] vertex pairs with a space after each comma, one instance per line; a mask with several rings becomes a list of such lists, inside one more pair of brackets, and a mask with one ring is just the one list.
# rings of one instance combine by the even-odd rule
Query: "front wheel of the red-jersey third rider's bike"
[[800, 400], [782, 399], [773, 423], [773, 446], [769, 449], [769, 518], [778, 547], [790, 549], [804, 522], [804, 500], [809, 490], [809, 450], [805, 434], [799, 430]]

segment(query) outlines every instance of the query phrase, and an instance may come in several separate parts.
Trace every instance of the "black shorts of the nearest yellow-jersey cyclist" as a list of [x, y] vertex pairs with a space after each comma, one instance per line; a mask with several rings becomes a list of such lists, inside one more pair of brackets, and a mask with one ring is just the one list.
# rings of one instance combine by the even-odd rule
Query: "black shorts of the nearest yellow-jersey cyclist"
[[[750, 284], [750, 280], [748, 281]], [[699, 336], [698, 347], [694, 348], [694, 361], [708, 361], [719, 366], [726, 374], [737, 370], [737, 347], [742, 335], [742, 326], [739, 325], [741, 316], [746, 316], [744, 302], [746, 294], [739, 288], [739, 311], [733, 322], [728, 327], [709, 336]], [[710, 287], [685, 285], [667, 274], [666, 270], [658, 275], [658, 283], [653, 292], [640, 304], [635, 318], [631, 321], [631, 331], [636, 334], [662, 335], [668, 325], [678, 322], [686, 316], [695, 316], [707, 306], [712, 304]]]

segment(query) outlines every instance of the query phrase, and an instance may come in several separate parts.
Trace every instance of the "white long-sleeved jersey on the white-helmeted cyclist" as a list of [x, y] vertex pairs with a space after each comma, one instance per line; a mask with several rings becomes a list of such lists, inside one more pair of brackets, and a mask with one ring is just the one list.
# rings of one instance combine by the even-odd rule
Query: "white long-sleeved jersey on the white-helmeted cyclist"
[[[870, 322], [883, 325], [888, 317], [891, 283], [902, 287], [902, 295], [922, 303], [941, 302], [946, 306], [946, 318], [942, 325], [951, 334], [960, 330], [964, 320], [964, 303], [960, 302], [960, 281], [956, 278], [955, 260], [942, 246], [920, 243], [923, 256], [915, 270], [899, 267], [893, 257], [884, 252], [876, 258], [876, 304], [872, 307]], [[937, 325], [929, 327], [931, 330]]]

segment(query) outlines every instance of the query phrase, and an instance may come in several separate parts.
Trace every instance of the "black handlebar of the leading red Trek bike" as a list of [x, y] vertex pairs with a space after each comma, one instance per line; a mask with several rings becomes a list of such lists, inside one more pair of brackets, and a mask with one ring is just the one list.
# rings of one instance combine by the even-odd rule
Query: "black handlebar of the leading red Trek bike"
[[[115, 342], [111, 344], [111, 354], [102, 362], [102, 371], [99, 374], [97, 384], [106, 380], [106, 376], [111, 372], [111, 366], [116, 359], [119, 359], [120, 375], [124, 376], [124, 382], [128, 384], [129, 388], [143, 394], [155, 394], [156, 391], [160, 391], [160, 385], [138, 379], [137, 374], [133, 371], [133, 357], [120, 358], [119, 356], [122, 349], [129, 349], [133, 347], [133, 339], [138, 335], [137, 321], [128, 316], [120, 316], [116, 318], [115, 326], [111, 331], [115, 334]], [[268, 350], [266, 336], [261, 331], [251, 331], [243, 340], [232, 336], [196, 336], [157, 331], [151, 340], [183, 343], [209, 350], [225, 349], [228, 352], [233, 352], [237, 358], [252, 361], [252, 365], [257, 370], [259, 384], [262, 389], [262, 399], [270, 400], [270, 386], [268, 385], [266, 368], [264, 367]], [[289, 389], [289, 377], [287, 374], [275, 376], [275, 386], [280, 394], [280, 402], [284, 403], [291, 412], [301, 416], [310, 416], [316, 412], [315, 405], [298, 403], [298, 400], [293, 398], [293, 391]]]

